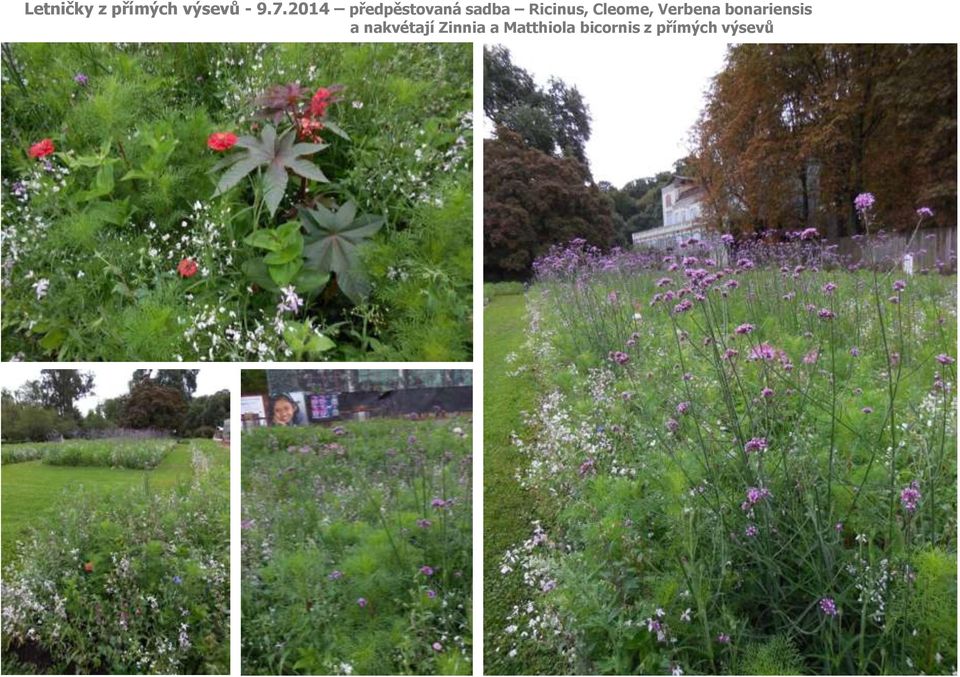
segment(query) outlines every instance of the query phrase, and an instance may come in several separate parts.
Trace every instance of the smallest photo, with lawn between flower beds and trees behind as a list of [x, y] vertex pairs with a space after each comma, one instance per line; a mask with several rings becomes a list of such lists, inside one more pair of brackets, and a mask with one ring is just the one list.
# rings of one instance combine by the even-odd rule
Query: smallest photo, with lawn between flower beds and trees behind
[[4, 674], [230, 672], [230, 393], [216, 383], [4, 369]]

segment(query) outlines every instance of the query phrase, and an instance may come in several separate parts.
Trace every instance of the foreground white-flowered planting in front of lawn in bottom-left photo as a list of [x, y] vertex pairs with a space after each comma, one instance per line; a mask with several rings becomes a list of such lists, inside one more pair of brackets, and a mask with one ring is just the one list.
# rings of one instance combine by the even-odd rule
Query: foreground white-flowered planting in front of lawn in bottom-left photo
[[229, 672], [228, 472], [192, 454], [177, 490], [86, 487], [4, 552], [5, 673]]

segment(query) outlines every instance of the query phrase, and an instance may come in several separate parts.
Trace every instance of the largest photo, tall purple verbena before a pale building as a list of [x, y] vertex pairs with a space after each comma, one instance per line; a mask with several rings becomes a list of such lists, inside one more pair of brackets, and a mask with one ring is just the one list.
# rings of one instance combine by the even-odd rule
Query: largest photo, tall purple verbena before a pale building
[[484, 48], [485, 672], [954, 674], [956, 45], [636, 49]]

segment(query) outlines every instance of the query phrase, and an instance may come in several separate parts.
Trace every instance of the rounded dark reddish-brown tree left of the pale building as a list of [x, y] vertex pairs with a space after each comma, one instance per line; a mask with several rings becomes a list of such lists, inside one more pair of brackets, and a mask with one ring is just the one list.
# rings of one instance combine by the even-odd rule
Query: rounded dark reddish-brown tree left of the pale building
[[525, 278], [537, 256], [573, 238], [613, 243], [611, 203], [575, 158], [530, 148], [503, 127], [483, 147], [485, 279]]

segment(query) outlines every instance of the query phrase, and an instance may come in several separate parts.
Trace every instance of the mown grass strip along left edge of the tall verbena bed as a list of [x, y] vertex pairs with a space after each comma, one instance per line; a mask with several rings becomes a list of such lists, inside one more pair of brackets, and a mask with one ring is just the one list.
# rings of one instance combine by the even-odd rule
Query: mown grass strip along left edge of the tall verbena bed
[[[522, 295], [495, 296], [483, 322], [483, 614], [484, 672], [513, 674], [517, 663], [495, 653], [507, 625], [506, 617], [526, 591], [517, 577], [500, 575], [504, 551], [530, 537], [536, 519], [533, 501], [514, 475], [524, 461], [510, 443], [520, 432], [520, 412], [536, 403], [532, 375], [508, 376], [516, 365], [506, 362], [518, 352], [526, 336], [527, 319]], [[529, 667], [529, 666], [528, 666]], [[547, 667], [547, 666], [543, 666]], [[549, 672], [549, 668], [545, 670]]]

